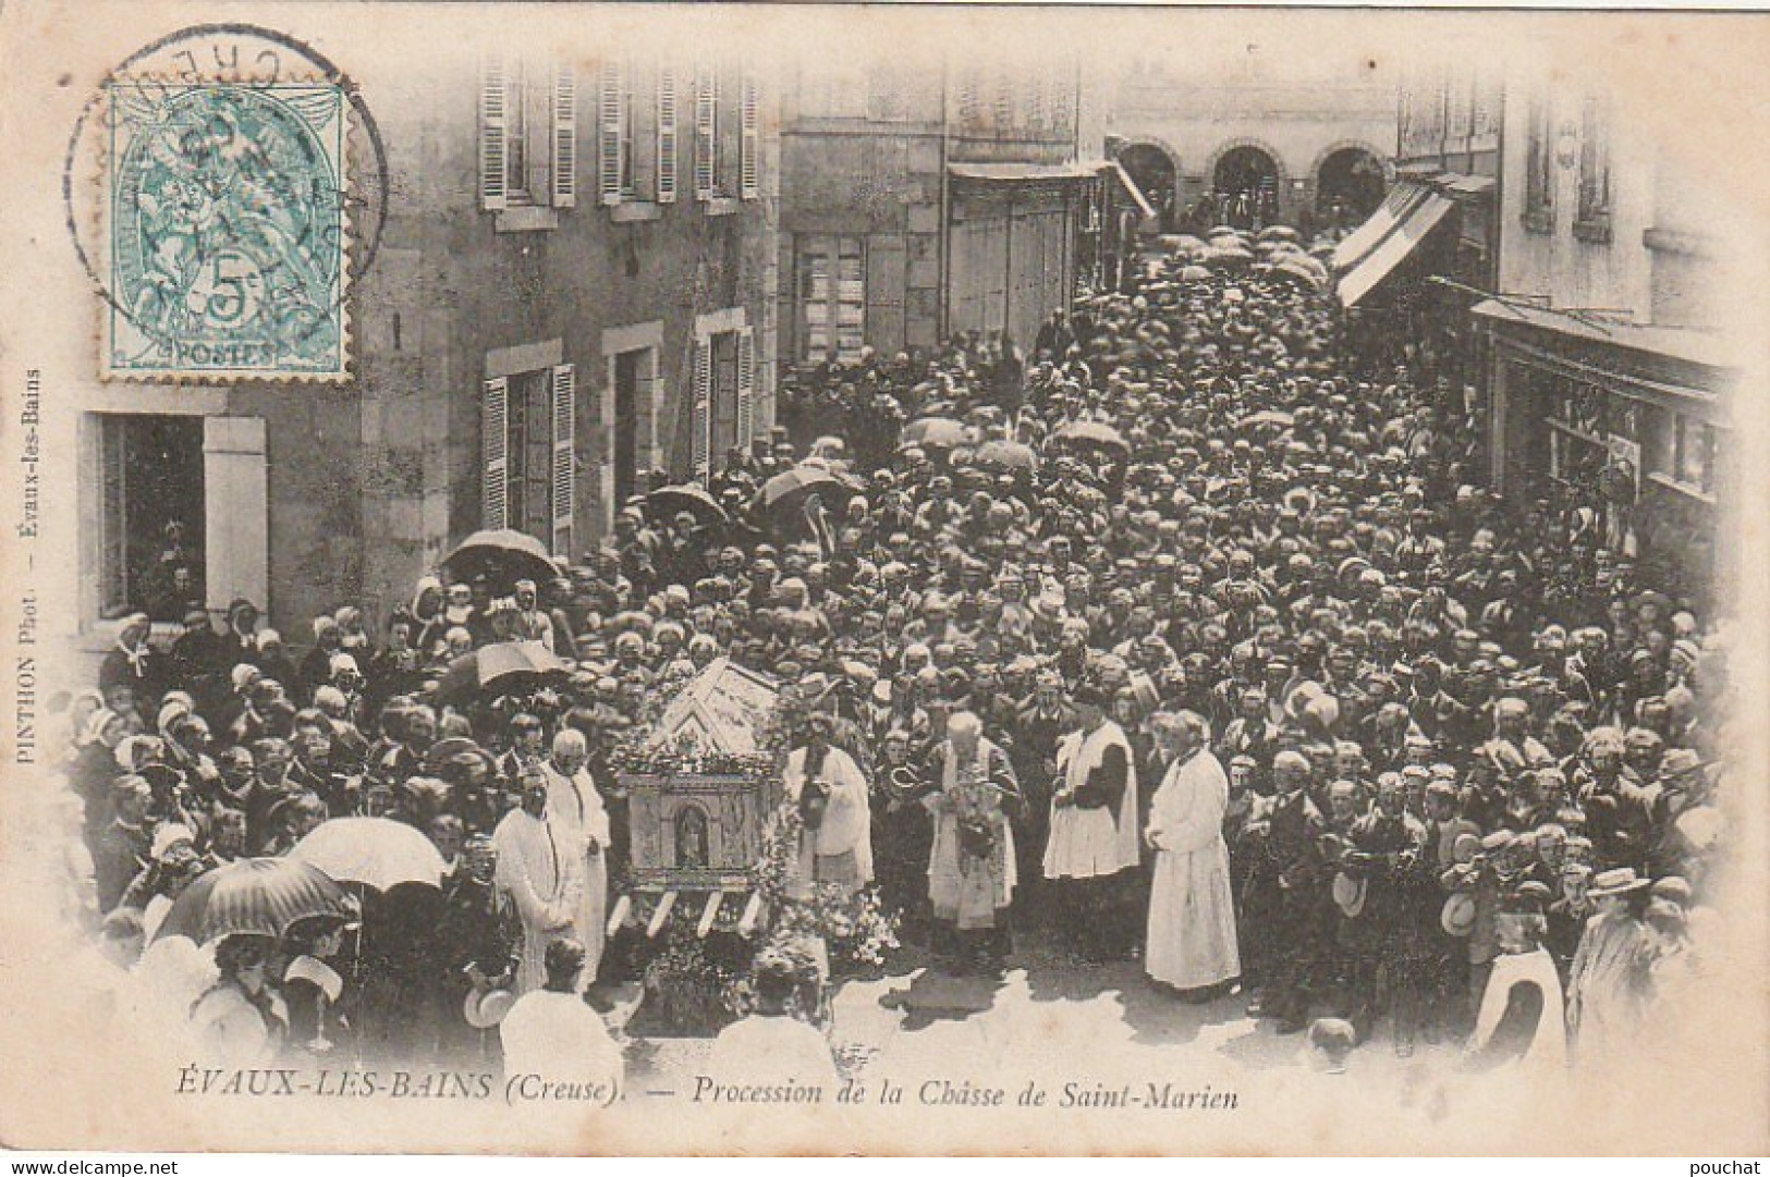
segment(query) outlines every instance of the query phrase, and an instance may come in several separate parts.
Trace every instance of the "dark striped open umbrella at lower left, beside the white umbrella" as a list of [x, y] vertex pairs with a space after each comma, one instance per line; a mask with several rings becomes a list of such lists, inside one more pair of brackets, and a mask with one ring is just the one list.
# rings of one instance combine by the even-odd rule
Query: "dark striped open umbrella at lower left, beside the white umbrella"
[[186, 936], [198, 945], [221, 936], [281, 936], [315, 915], [354, 919], [350, 897], [312, 862], [241, 858], [202, 874], [184, 889], [154, 940]]

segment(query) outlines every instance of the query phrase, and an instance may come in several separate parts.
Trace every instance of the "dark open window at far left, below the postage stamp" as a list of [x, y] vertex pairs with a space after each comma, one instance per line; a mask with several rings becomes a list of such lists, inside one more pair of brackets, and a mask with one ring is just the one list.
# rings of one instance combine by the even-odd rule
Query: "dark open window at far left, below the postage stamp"
[[[202, 604], [204, 418], [99, 414], [99, 618]], [[260, 602], [262, 604], [262, 602]]]

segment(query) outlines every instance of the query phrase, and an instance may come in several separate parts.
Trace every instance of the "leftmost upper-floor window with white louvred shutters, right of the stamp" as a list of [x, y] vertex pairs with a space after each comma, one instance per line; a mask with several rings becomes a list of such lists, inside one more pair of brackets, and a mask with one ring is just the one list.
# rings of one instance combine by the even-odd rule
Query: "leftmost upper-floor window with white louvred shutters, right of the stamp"
[[577, 81], [570, 69], [487, 62], [480, 73], [480, 207], [577, 204]]

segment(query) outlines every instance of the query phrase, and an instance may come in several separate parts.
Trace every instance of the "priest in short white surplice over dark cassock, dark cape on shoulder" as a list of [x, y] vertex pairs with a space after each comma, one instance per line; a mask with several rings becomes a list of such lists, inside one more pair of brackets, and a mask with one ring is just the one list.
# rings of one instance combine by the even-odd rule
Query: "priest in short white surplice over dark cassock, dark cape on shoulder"
[[1124, 729], [1106, 719], [1101, 687], [1083, 680], [1073, 701], [1081, 729], [1057, 745], [1044, 878], [1071, 949], [1104, 961], [1131, 950], [1124, 892], [1140, 860], [1136, 765]]

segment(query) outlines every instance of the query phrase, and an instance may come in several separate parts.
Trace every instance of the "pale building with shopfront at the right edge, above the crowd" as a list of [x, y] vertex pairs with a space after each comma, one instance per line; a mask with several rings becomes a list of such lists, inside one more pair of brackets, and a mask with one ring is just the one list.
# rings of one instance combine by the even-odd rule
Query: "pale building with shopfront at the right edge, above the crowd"
[[1492, 476], [1575, 496], [1595, 526], [1696, 595], [1726, 575], [1740, 347], [1722, 331], [1722, 207], [1655, 120], [1602, 81], [1512, 78], [1489, 343]]

